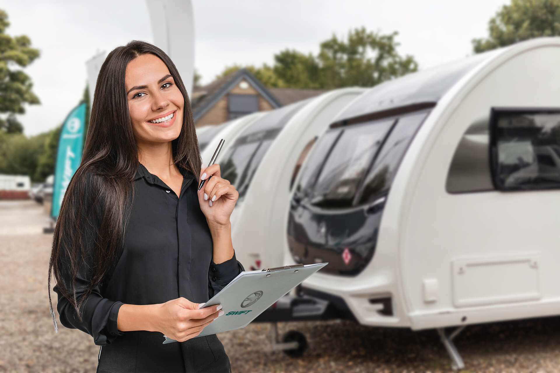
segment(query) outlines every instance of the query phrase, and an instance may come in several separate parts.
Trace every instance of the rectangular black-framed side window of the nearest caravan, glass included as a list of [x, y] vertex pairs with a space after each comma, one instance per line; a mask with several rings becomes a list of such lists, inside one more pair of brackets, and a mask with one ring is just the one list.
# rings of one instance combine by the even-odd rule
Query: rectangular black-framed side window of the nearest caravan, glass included
[[498, 190], [560, 188], [560, 109], [494, 108], [491, 150]]

